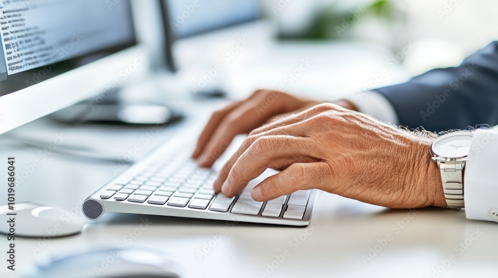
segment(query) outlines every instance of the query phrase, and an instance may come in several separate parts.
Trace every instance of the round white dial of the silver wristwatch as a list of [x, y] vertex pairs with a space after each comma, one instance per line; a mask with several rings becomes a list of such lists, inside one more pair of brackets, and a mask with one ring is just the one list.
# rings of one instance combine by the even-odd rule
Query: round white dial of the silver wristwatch
[[456, 132], [437, 139], [432, 150], [435, 154], [447, 158], [464, 157], [469, 154], [472, 134]]

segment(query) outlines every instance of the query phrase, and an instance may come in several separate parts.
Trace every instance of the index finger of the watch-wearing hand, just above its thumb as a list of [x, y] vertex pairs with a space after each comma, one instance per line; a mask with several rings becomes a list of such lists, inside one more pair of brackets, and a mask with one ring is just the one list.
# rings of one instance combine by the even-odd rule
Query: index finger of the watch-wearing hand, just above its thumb
[[228, 197], [239, 194], [249, 181], [267, 168], [280, 168], [297, 162], [317, 161], [304, 139], [289, 136], [265, 136], [254, 143], [235, 162], [222, 185]]

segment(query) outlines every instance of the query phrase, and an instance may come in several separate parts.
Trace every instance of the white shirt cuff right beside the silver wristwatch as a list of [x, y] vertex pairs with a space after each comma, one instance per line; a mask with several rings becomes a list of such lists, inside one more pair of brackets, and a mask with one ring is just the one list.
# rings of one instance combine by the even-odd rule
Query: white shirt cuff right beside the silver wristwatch
[[[498, 130], [477, 130], [465, 165], [465, 214], [469, 219], [498, 221]], [[495, 217], [495, 218], [494, 218]]]

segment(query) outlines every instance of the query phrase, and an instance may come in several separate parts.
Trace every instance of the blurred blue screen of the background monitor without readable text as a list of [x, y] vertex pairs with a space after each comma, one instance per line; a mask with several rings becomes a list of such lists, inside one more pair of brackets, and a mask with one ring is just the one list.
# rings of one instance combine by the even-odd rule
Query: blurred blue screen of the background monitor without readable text
[[164, 0], [175, 39], [259, 18], [257, 0]]

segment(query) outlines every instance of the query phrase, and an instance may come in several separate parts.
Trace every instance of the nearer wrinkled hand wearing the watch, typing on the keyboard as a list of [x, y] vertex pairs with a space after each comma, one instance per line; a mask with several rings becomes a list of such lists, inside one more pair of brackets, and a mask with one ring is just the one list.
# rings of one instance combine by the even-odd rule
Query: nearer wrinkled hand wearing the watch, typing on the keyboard
[[266, 168], [284, 169], [254, 189], [256, 201], [317, 188], [389, 208], [446, 206], [434, 139], [320, 104], [253, 130], [215, 181], [228, 197]]

